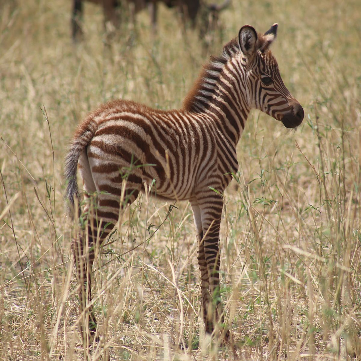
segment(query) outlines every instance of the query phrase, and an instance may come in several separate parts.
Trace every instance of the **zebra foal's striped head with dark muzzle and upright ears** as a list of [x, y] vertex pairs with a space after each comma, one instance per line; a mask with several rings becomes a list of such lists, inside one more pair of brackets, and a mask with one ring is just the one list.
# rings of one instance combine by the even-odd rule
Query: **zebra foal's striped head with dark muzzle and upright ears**
[[258, 35], [252, 26], [243, 26], [238, 35], [243, 53], [240, 61], [247, 73], [251, 108], [282, 121], [287, 128], [295, 128], [303, 120], [303, 108], [284, 85], [277, 61], [269, 50], [276, 38], [277, 26], [275, 23]]

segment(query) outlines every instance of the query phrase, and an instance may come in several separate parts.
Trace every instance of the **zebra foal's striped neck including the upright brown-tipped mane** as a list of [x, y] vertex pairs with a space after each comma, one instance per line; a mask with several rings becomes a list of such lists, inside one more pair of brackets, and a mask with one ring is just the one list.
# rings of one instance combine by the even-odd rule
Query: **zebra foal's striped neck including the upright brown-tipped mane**
[[184, 110], [213, 117], [233, 144], [237, 144], [249, 114], [246, 82], [242, 80], [245, 71], [234, 58], [239, 52], [234, 39], [225, 45], [221, 56], [211, 57], [183, 102]]

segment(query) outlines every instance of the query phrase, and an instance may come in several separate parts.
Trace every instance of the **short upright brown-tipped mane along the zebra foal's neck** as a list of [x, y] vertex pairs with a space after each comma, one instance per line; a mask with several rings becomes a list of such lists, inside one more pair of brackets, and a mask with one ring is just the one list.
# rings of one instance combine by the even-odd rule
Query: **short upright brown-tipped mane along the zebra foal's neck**
[[240, 52], [238, 39], [232, 39], [223, 47], [219, 56], [211, 56], [208, 64], [203, 66], [197, 81], [183, 101], [183, 109], [188, 112], [202, 112], [212, 100], [219, 76], [227, 63]]

